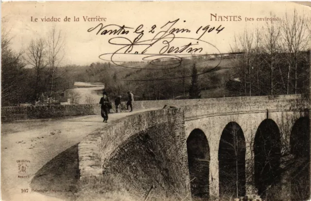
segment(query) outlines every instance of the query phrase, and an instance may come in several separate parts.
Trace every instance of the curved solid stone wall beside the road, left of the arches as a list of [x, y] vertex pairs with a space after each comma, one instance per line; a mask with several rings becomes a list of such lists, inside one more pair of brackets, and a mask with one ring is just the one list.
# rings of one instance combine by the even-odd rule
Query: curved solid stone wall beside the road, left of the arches
[[128, 116], [97, 130], [79, 144], [80, 176], [119, 175], [137, 200], [151, 186], [169, 198], [190, 193], [182, 108]]

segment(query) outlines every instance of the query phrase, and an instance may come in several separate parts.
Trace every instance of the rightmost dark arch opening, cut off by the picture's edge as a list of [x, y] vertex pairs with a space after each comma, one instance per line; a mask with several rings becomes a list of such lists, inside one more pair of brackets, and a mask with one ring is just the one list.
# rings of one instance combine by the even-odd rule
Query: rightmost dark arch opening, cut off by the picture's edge
[[[310, 119], [298, 118], [290, 136], [293, 161], [290, 167], [291, 200], [310, 198]], [[308, 178], [308, 179], [307, 179]]]

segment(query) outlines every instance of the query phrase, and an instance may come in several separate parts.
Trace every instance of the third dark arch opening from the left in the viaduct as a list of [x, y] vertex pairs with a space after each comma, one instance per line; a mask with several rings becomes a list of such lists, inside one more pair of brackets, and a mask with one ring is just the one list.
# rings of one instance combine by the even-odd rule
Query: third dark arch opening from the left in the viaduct
[[263, 198], [268, 188], [280, 182], [280, 158], [279, 128], [274, 120], [265, 119], [260, 123], [254, 141], [255, 186]]

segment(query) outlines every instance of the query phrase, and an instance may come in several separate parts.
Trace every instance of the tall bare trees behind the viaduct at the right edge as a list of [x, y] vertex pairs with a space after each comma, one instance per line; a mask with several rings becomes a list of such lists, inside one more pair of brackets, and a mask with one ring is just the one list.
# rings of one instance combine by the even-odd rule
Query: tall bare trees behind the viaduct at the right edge
[[308, 93], [310, 36], [310, 17], [296, 10], [281, 22], [245, 29], [231, 46], [244, 52], [234, 60], [241, 82], [233, 88], [244, 96]]

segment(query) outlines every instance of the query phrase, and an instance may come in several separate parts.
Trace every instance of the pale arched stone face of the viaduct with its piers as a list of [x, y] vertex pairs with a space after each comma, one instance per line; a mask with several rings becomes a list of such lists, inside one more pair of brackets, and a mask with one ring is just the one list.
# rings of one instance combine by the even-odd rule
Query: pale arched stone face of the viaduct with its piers
[[[185, 107], [185, 130], [187, 137], [194, 129], [200, 129], [207, 137], [210, 149], [209, 192], [210, 196], [219, 196], [218, 150], [222, 132], [229, 122], [241, 126], [246, 143], [246, 161], [254, 161], [252, 143], [260, 123], [266, 118], [272, 119], [280, 129], [282, 150], [289, 149], [289, 137], [294, 122], [300, 117], [308, 117], [309, 99], [274, 100], [257, 102], [218, 102], [217, 104], [189, 105]], [[268, 109], [268, 110], [267, 110]], [[251, 163], [254, 165], [253, 163]], [[200, 169], [199, 169], [200, 170]], [[253, 193], [253, 181], [249, 175], [254, 173], [253, 166], [246, 164], [246, 191]]]

